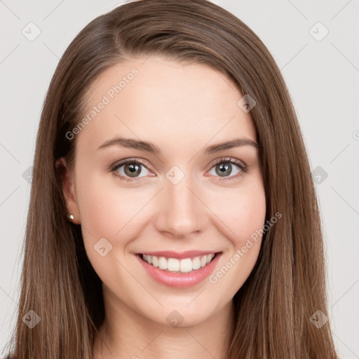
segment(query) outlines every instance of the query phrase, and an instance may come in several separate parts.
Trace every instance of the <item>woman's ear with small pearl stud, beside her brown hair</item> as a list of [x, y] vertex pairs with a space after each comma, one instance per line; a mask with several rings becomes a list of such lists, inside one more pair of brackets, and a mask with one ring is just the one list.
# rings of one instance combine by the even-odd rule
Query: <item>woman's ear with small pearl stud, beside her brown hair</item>
[[80, 224], [79, 206], [76, 201], [76, 193], [74, 190], [74, 173], [69, 169], [64, 157], [58, 158], [56, 161], [56, 171], [62, 181], [62, 192], [66, 201], [68, 215], [74, 215], [74, 219], [69, 219], [74, 224]]

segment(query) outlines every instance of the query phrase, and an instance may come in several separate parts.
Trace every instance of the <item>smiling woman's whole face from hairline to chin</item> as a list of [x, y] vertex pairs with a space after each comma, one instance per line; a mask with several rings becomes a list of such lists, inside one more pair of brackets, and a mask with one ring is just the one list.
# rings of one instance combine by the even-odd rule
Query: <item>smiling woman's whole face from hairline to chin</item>
[[[104, 299], [163, 325], [202, 323], [231, 302], [262, 241], [252, 239], [266, 207], [243, 94], [222, 72], [161, 57], [111, 67], [88, 94], [87, 121], [67, 133], [76, 140], [67, 209]], [[218, 146], [238, 139], [248, 142]], [[140, 254], [153, 252], [174, 253], [145, 264]]]

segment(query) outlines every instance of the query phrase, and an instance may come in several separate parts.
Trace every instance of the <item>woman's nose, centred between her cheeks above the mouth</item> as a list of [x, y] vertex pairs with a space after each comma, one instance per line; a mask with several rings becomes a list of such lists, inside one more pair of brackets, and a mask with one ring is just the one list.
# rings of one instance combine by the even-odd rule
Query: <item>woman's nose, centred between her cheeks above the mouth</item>
[[189, 176], [177, 184], [165, 180], [158, 196], [156, 229], [173, 238], [203, 231], [208, 215], [199, 192]]

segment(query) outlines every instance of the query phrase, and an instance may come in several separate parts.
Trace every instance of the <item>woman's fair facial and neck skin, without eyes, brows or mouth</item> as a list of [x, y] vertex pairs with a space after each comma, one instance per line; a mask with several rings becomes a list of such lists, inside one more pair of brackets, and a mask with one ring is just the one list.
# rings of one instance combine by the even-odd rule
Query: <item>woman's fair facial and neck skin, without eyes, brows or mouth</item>
[[[64, 158], [57, 162], [65, 167], [67, 210], [81, 223], [86, 253], [103, 282], [106, 319], [94, 358], [226, 358], [232, 298], [255, 266], [262, 238], [217, 283], [207, 278], [185, 289], [157, 283], [135, 253], [222, 251], [216, 273], [264, 226], [259, 149], [204, 154], [209, 145], [235, 137], [257, 142], [255, 127], [237, 105], [243, 94], [222, 72], [162, 57], [107, 69], [90, 87], [88, 111], [134, 67], [137, 76], [76, 135], [74, 169]], [[153, 142], [162, 154], [116, 145], [97, 149], [116, 135]], [[109, 171], [133, 157], [147, 165], [132, 182]], [[225, 157], [248, 170], [233, 164], [221, 177], [213, 163]], [[165, 177], [174, 165], [184, 173], [177, 184]], [[126, 175], [124, 169], [117, 172]], [[104, 257], [94, 250], [100, 238], [112, 245]], [[183, 317], [178, 327], [166, 320], [174, 310]]]

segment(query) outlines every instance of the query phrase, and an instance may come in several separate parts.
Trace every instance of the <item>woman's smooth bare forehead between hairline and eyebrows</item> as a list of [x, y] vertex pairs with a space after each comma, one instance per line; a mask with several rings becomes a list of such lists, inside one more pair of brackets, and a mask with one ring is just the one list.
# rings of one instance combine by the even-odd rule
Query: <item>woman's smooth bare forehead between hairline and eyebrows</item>
[[92, 83], [84, 114], [90, 121], [79, 137], [96, 148], [115, 135], [178, 147], [212, 138], [256, 140], [250, 114], [238, 107], [241, 97], [230, 79], [207, 65], [137, 58]]

